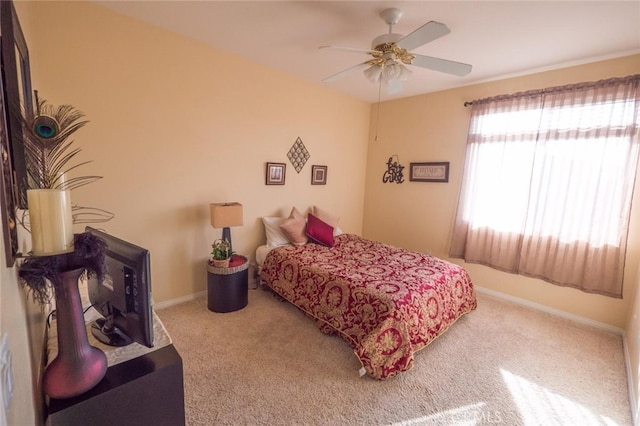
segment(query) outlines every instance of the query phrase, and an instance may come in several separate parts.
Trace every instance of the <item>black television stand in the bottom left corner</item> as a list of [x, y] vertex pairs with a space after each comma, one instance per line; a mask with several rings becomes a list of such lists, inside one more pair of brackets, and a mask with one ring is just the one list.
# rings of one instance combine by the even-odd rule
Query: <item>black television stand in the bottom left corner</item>
[[[164, 328], [155, 314], [154, 320], [154, 330], [158, 323]], [[51, 342], [56, 334], [53, 323], [49, 331]], [[156, 335], [154, 348], [139, 345], [144, 350], [142, 355], [113, 361], [117, 357], [112, 356], [112, 353], [124, 349], [109, 348], [90, 336], [90, 343], [107, 354], [107, 373], [93, 389], [81, 395], [69, 399], [48, 398], [45, 424], [183, 426], [185, 411], [182, 358], [168, 335], [162, 344], [158, 343], [162, 342], [158, 337]], [[126, 348], [128, 350], [130, 347]]]

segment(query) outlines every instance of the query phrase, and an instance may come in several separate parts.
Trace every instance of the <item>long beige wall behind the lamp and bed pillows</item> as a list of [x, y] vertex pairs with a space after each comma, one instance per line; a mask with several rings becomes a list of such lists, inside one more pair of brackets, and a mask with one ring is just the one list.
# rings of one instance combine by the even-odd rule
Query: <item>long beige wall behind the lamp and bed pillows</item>
[[[206, 289], [221, 230], [209, 203], [244, 204], [234, 249], [254, 256], [260, 217], [318, 204], [361, 232], [369, 105], [88, 2], [22, 5], [34, 89], [91, 122], [75, 135], [84, 173], [74, 202], [113, 211], [98, 225], [151, 250], [155, 302]], [[287, 151], [311, 154], [298, 174]], [[265, 162], [287, 163], [265, 186]], [[311, 165], [328, 166], [311, 186]], [[82, 230], [77, 227], [76, 232]]]

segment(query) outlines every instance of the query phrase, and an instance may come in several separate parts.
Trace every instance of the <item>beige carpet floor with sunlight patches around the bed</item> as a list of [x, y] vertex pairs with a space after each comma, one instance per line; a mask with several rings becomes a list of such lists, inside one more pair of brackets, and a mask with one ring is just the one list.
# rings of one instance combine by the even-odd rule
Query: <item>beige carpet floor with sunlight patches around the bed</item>
[[631, 425], [622, 339], [479, 294], [478, 309], [377, 381], [270, 292], [158, 311], [184, 362], [187, 425]]

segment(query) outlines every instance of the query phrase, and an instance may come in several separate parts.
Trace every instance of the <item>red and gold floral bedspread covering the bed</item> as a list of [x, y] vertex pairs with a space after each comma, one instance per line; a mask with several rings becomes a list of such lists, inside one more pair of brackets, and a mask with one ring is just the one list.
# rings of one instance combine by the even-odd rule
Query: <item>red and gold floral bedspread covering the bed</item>
[[260, 278], [323, 332], [338, 333], [376, 379], [409, 370], [416, 351], [477, 306], [461, 266], [353, 234], [331, 248], [273, 249]]

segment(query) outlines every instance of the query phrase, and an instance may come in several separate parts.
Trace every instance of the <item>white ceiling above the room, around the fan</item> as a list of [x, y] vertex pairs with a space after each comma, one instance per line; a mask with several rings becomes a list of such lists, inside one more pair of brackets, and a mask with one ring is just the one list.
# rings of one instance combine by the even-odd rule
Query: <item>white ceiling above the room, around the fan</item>
[[[397, 7], [395, 33], [428, 21], [451, 33], [413, 52], [465, 62], [455, 77], [418, 67], [382, 100], [640, 53], [640, 0], [633, 1], [97, 1], [114, 11], [331, 87], [367, 102], [378, 87], [361, 72], [322, 79], [369, 59], [322, 45], [369, 49], [388, 32], [380, 11]], [[640, 69], [638, 70], [640, 72]]]

